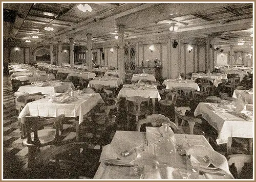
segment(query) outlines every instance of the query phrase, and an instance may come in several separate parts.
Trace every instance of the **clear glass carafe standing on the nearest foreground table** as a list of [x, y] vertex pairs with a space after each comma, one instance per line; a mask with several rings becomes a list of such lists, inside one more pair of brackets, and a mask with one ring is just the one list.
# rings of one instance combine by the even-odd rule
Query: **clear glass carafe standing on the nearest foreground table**
[[160, 165], [173, 166], [176, 163], [175, 143], [169, 138], [169, 123], [162, 123], [163, 137], [154, 143], [154, 153]]

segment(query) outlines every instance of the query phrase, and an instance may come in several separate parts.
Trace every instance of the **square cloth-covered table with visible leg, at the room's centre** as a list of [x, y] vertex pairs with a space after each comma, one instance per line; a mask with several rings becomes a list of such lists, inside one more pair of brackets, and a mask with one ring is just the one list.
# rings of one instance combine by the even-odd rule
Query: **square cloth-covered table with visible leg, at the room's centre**
[[156, 112], [156, 99], [158, 101], [161, 99], [161, 96], [157, 90], [156, 85], [144, 84], [143, 82], [136, 84], [125, 84], [119, 91], [117, 98], [126, 98], [134, 96], [140, 96], [145, 98], [150, 97], [152, 99], [153, 113]]

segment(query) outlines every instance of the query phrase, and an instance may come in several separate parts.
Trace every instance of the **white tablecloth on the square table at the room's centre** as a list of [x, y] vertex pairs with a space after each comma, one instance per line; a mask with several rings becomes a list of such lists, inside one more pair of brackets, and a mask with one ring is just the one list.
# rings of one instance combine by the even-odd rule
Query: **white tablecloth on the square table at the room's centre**
[[123, 87], [119, 93], [117, 98], [120, 97], [133, 97], [133, 96], [140, 96], [140, 97], [150, 97], [150, 98], [157, 98], [158, 101], [161, 99], [161, 96], [157, 90], [157, 88], [146, 88], [143, 90], [142, 88], [125, 88]]

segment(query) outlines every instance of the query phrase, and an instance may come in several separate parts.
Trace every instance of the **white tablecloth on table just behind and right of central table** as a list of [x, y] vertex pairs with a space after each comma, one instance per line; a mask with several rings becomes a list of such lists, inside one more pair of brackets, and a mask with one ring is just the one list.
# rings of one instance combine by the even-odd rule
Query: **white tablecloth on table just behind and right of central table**
[[166, 89], [175, 89], [176, 87], [189, 87], [189, 88], [194, 88], [197, 91], [200, 91], [198, 84], [191, 80], [180, 81], [180, 82], [175, 80], [164, 80], [162, 85], [166, 86], [165, 87]]

